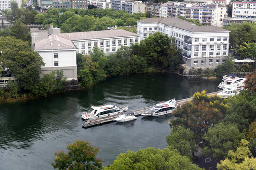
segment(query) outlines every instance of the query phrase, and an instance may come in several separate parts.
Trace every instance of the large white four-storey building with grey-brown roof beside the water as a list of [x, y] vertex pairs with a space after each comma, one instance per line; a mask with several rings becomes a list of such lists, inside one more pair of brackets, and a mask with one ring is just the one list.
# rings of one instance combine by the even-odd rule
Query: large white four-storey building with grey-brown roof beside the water
[[141, 40], [155, 32], [175, 37], [176, 48], [181, 49], [188, 68], [216, 68], [228, 56], [229, 31], [217, 26], [196, 26], [174, 17], [137, 21]]

